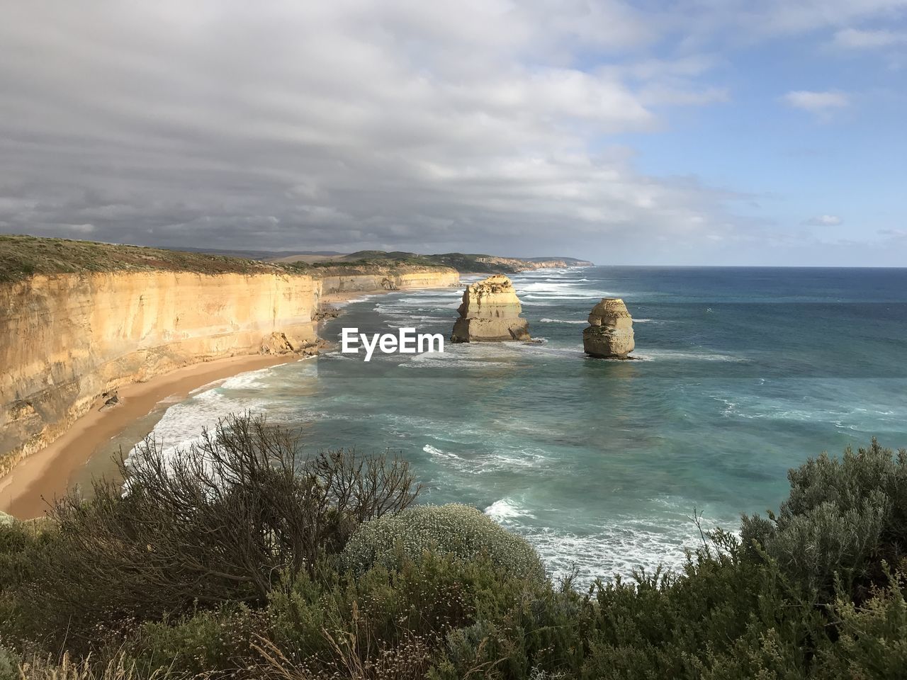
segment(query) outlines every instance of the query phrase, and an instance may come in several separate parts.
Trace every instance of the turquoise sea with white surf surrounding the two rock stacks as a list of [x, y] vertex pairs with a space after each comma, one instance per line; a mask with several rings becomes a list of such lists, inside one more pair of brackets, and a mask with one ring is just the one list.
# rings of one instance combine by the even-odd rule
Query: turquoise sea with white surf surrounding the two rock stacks
[[[541, 344], [443, 355], [337, 352], [243, 374], [171, 407], [168, 446], [231, 411], [301, 428], [307, 448], [390, 449], [425, 501], [472, 503], [556, 573], [674, 565], [697, 530], [776, 507], [808, 456], [907, 445], [907, 270], [586, 267], [512, 277]], [[450, 334], [462, 289], [354, 301], [323, 329]], [[640, 361], [582, 354], [602, 296]]]

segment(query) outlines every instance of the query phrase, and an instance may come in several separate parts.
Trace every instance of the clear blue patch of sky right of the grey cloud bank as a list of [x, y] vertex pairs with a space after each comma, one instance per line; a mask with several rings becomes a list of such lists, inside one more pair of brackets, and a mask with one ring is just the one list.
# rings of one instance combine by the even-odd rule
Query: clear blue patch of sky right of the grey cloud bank
[[[665, 132], [625, 141], [640, 170], [738, 191], [745, 198], [733, 201], [736, 213], [822, 242], [810, 253], [807, 241], [780, 261], [875, 264], [867, 259], [873, 248], [834, 244], [888, 246], [885, 232], [904, 228], [905, 77], [901, 50], [843, 48], [834, 32], [727, 48], [707, 75], [727, 89], [726, 102], [668, 114]], [[832, 92], [842, 103], [798, 108], [788, 92]], [[900, 266], [907, 252], [876, 254], [879, 264]]]

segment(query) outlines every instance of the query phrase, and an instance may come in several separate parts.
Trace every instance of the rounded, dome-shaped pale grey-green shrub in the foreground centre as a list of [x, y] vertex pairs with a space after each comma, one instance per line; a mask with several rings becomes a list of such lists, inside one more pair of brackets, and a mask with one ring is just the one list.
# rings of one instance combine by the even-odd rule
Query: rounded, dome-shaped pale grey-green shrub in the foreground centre
[[346, 544], [342, 562], [361, 574], [375, 564], [394, 568], [424, 552], [460, 559], [486, 556], [519, 578], [544, 579], [539, 554], [526, 539], [466, 505], [422, 505], [363, 524]]

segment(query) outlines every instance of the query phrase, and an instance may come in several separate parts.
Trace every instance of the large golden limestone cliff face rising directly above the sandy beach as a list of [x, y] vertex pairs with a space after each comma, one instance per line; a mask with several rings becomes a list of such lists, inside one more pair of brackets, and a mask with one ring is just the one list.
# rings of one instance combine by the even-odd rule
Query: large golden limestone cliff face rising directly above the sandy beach
[[308, 276], [166, 271], [0, 285], [0, 474], [122, 384], [314, 347], [319, 290]]

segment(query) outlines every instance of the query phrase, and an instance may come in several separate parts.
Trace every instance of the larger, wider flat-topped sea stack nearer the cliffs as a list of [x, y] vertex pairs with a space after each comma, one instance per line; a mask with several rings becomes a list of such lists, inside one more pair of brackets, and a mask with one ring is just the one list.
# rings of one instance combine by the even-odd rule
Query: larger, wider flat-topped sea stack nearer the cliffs
[[452, 343], [529, 340], [529, 324], [511, 280], [495, 274], [470, 284], [463, 292], [460, 318], [453, 324]]

